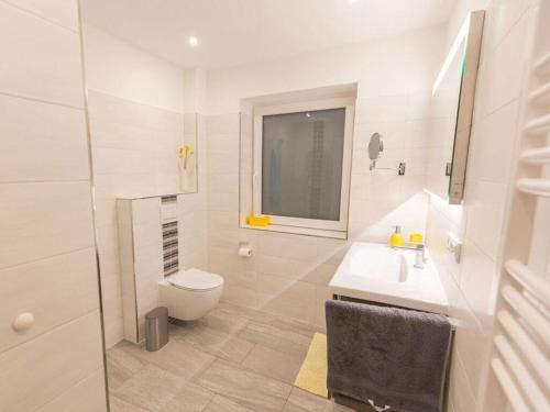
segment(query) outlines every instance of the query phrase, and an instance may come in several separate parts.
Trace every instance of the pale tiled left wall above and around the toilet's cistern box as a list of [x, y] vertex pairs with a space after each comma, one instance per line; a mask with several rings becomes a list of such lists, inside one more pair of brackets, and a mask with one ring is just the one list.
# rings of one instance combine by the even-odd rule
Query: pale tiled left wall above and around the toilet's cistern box
[[[84, 51], [106, 344], [110, 347], [123, 336], [116, 199], [180, 191], [177, 147], [195, 126], [195, 115], [185, 113], [185, 73], [179, 67], [90, 24], [84, 27]], [[200, 121], [198, 129], [200, 145]], [[183, 266], [206, 266], [206, 194], [185, 199], [180, 219], [189, 231], [183, 240]], [[201, 230], [204, 236], [188, 241], [189, 234]]]

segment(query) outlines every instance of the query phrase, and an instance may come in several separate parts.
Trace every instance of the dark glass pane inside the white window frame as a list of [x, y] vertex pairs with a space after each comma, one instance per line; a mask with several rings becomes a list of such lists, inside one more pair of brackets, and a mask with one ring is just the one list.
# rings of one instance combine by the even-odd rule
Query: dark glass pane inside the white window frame
[[340, 220], [345, 108], [264, 115], [262, 213]]

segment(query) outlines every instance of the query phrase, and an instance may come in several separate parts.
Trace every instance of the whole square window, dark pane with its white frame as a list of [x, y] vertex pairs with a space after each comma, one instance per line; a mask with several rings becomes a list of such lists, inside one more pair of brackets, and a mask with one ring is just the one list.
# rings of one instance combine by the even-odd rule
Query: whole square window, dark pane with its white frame
[[352, 99], [254, 111], [254, 214], [345, 232], [353, 111]]

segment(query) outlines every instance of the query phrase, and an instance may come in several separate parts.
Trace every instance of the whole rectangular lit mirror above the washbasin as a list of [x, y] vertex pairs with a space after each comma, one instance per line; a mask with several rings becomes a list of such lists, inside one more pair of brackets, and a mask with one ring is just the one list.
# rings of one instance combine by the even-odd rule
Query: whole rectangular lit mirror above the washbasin
[[450, 204], [464, 197], [484, 15], [466, 16], [433, 83], [426, 186]]

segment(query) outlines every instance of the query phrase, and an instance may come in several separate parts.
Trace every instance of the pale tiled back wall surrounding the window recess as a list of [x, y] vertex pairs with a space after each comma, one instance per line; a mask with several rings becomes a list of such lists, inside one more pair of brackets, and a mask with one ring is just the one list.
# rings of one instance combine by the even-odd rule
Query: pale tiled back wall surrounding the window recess
[[[421, 191], [431, 87], [443, 58], [447, 26], [431, 27], [284, 60], [208, 73], [208, 263], [226, 277], [223, 299], [324, 324], [328, 281], [351, 241], [386, 242], [392, 225], [424, 232]], [[241, 99], [358, 82], [349, 241], [239, 229]], [[367, 143], [385, 138], [380, 167], [369, 171]], [[406, 176], [397, 176], [399, 162]], [[238, 256], [250, 242], [253, 257]]]

